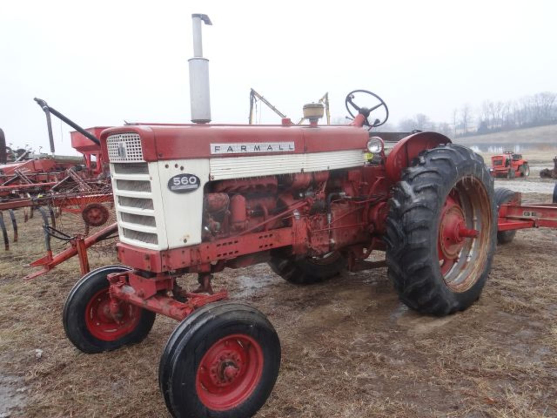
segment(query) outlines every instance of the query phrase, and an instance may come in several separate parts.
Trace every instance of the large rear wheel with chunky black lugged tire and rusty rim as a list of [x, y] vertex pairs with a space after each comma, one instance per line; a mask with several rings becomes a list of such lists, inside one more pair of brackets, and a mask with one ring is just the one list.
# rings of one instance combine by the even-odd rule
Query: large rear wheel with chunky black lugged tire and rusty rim
[[483, 159], [461, 145], [425, 150], [405, 170], [385, 237], [388, 275], [405, 304], [441, 316], [480, 297], [495, 251], [493, 197]]

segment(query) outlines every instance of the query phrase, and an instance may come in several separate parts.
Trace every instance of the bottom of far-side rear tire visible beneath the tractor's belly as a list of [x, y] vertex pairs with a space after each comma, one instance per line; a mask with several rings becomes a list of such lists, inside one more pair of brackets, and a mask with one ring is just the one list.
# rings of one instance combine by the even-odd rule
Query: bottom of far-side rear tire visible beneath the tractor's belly
[[286, 281], [298, 285], [320, 283], [340, 274], [346, 268], [346, 259], [340, 252], [331, 252], [324, 257], [271, 257], [271, 269]]

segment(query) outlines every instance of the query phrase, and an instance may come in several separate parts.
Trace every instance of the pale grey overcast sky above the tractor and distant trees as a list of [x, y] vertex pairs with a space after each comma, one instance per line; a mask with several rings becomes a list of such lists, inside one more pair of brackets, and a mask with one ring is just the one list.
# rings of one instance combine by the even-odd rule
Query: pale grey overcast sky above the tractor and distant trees
[[[188, 122], [192, 13], [206, 13], [212, 116], [246, 123], [250, 87], [293, 120], [329, 91], [383, 97], [391, 123], [557, 91], [555, 1], [0, 0], [0, 127], [48, 149], [45, 99], [84, 127]], [[263, 109], [262, 122], [277, 123]], [[57, 154], [71, 153], [56, 120]], [[61, 142], [62, 141], [62, 142]]]

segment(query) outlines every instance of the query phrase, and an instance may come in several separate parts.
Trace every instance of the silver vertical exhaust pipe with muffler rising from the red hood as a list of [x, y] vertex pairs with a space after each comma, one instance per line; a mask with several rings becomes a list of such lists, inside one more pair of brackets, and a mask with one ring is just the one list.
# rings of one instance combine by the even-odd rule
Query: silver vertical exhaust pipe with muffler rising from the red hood
[[193, 123], [211, 121], [211, 98], [209, 96], [209, 60], [203, 58], [201, 22], [213, 25], [207, 14], [192, 14], [193, 58], [189, 59], [189, 99]]

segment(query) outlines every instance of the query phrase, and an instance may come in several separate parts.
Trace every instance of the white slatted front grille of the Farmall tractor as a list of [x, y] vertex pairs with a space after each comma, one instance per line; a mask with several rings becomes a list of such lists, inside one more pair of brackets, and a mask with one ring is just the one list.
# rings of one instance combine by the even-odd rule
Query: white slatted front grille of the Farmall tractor
[[[125, 135], [127, 134], [113, 136], [123, 137]], [[135, 155], [140, 155], [141, 149], [139, 149], [139, 154], [135, 153]], [[129, 156], [129, 154], [126, 155]], [[120, 241], [158, 249], [159, 237], [149, 164], [145, 162], [114, 163], [112, 157], [110, 158]]]

